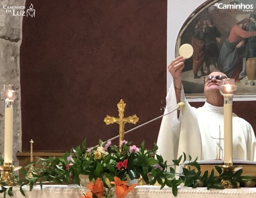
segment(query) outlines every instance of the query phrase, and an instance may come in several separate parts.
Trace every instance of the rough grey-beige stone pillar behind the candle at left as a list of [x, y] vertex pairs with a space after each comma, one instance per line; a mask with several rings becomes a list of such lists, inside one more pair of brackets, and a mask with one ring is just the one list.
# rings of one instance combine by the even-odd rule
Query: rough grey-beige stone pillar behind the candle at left
[[[8, 7], [7, 7], [8, 6]], [[10, 6], [20, 6], [19, 8]], [[22, 18], [17, 12], [25, 9], [25, 0], [2, 0], [0, 2], [0, 90], [4, 84], [16, 85], [18, 97], [14, 102], [13, 118], [13, 161], [18, 165], [17, 151], [22, 148], [21, 131], [21, 87], [20, 87], [20, 45], [22, 41]], [[14, 8], [14, 9], [13, 9]], [[0, 153], [4, 154], [4, 110], [5, 101], [0, 101]]]

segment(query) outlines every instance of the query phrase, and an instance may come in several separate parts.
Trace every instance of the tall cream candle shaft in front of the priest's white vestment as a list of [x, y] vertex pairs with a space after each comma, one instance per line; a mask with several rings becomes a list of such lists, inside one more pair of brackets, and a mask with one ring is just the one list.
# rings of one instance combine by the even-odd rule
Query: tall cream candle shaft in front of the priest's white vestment
[[233, 165], [232, 103], [224, 104], [224, 164]]

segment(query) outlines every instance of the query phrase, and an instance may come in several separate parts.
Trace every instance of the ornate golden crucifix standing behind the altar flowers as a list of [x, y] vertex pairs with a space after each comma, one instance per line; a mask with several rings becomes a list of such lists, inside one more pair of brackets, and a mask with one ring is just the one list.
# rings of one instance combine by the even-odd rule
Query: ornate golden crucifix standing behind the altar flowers
[[119, 148], [122, 148], [121, 141], [124, 140], [125, 137], [125, 123], [133, 123], [136, 124], [138, 122], [139, 118], [136, 116], [136, 114], [129, 116], [127, 118], [124, 118], [124, 111], [125, 111], [126, 103], [121, 99], [120, 102], [117, 104], [118, 112], [119, 112], [119, 118], [107, 116], [104, 118], [104, 122], [109, 125], [112, 123], [118, 123], [119, 124]]

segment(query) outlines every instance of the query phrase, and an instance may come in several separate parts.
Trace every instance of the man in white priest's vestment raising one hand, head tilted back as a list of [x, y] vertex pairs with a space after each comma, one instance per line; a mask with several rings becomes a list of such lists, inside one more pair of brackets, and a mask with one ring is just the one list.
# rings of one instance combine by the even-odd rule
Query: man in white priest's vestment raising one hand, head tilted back
[[[205, 78], [206, 102], [203, 107], [196, 109], [186, 101], [182, 87], [181, 71], [184, 60], [183, 57], [177, 57], [168, 66], [173, 82], [167, 93], [165, 113], [174, 110], [178, 102], [185, 103], [180, 113], [176, 110], [163, 117], [158, 134], [158, 154], [167, 160], [168, 165], [173, 164], [172, 160], [177, 159], [183, 152], [187, 156], [191, 155], [192, 160], [196, 157], [198, 160], [214, 160], [219, 154], [220, 142], [224, 149], [224, 141], [219, 140], [224, 138], [224, 99], [219, 86], [226, 75], [214, 71]], [[256, 161], [256, 139], [251, 124], [234, 113], [232, 119], [233, 158]]]

